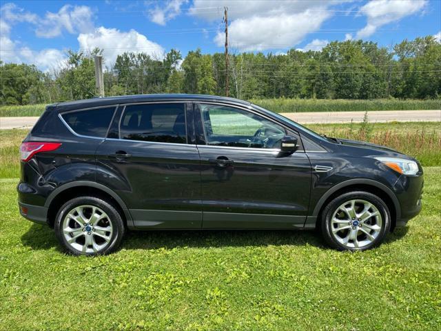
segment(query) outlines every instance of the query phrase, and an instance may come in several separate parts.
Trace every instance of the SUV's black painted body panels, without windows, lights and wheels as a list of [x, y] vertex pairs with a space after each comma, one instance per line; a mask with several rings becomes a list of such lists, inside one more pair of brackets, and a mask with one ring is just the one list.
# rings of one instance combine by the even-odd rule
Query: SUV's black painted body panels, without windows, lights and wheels
[[[125, 105], [158, 102], [185, 103], [187, 144], [118, 139]], [[298, 135], [299, 149], [283, 154], [206, 146], [199, 103], [221, 103], [271, 119]], [[74, 134], [59, 116], [104, 106], [115, 106], [105, 139]], [[21, 162], [19, 204], [28, 208], [28, 214], [21, 214], [39, 223], [53, 221], [48, 219], [52, 201], [74, 187], [110, 194], [133, 229], [314, 228], [325, 201], [353, 185], [369, 185], [386, 194], [397, 225], [421, 208], [422, 168], [404, 176], [373, 157], [411, 158], [359, 141], [318, 140], [280, 116], [236, 99], [156, 94], [73, 101], [48, 106], [37, 127], [38, 134], [32, 130], [25, 141], [62, 143], [54, 152]], [[311, 145], [317, 148], [302, 148]], [[116, 159], [115, 153], [130, 157]], [[317, 172], [316, 165], [331, 170]]]

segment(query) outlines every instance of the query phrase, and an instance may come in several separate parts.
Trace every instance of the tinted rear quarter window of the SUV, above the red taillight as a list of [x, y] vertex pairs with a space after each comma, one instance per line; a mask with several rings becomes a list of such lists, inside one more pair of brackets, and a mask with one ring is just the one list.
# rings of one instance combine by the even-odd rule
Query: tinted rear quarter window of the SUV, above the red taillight
[[104, 138], [115, 107], [79, 110], [61, 114], [68, 126], [77, 134]]

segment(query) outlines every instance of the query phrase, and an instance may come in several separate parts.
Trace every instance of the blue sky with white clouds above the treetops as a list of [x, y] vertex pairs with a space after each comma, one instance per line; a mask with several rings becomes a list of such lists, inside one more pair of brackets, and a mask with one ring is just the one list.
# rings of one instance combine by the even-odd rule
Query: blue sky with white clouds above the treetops
[[[0, 59], [48, 71], [67, 50], [103, 50], [111, 68], [123, 52], [161, 59], [174, 48], [223, 52], [224, 7], [230, 52], [320, 50], [363, 39], [391, 46], [441, 39], [441, 0], [0, 1]], [[441, 41], [440, 41], [441, 42]]]

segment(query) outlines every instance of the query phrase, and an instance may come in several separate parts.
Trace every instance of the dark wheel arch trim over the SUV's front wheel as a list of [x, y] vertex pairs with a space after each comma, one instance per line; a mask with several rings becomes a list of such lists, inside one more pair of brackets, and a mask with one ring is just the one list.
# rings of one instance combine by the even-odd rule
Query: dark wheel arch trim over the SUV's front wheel
[[338, 183], [327, 190], [327, 192], [318, 200], [318, 203], [316, 203], [316, 207], [312, 214], [313, 217], [316, 217], [316, 227], [320, 224], [321, 213], [327, 203], [339, 195], [351, 191], [369, 192], [376, 194], [376, 196], [382, 199], [391, 213], [391, 231], [393, 231], [396, 227], [396, 220], [401, 217], [400, 202], [390, 188], [371, 179], [349, 179], [348, 181]]

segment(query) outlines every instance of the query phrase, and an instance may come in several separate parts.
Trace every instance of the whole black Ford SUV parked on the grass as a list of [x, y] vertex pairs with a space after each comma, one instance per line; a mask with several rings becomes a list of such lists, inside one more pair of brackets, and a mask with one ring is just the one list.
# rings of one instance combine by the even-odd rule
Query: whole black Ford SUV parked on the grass
[[366, 250], [421, 209], [422, 168], [245, 101], [187, 94], [50, 105], [21, 145], [19, 210], [72, 254], [126, 229], [314, 229]]

